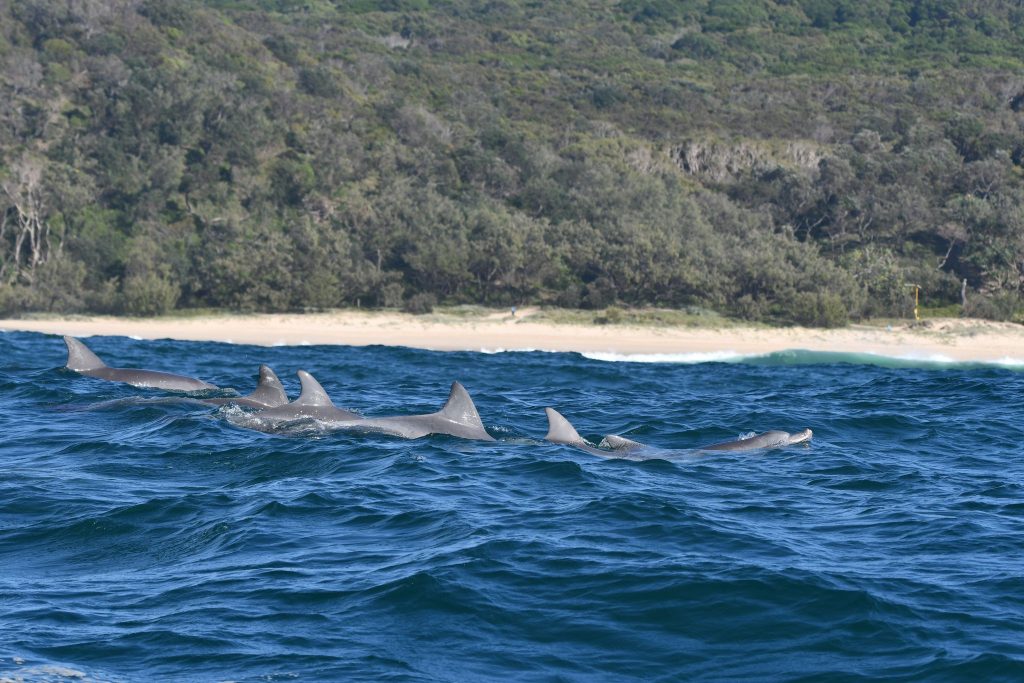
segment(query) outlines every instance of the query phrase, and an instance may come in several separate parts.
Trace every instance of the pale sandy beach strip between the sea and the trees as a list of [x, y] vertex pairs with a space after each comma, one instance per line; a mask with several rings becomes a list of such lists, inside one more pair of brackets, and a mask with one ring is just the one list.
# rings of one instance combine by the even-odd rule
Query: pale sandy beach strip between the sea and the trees
[[[1024, 362], [1024, 326], [933, 318], [924, 326], [839, 329], [581, 325], [536, 319], [536, 309], [473, 315], [390, 311], [209, 314], [127, 318], [108, 315], [2, 319], [0, 331], [91, 337], [216, 341], [260, 346], [341, 344], [436, 351], [577, 351], [623, 355], [754, 355], [785, 350], [873, 353], [913, 359]], [[531, 319], [532, 318], [532, 319]]]

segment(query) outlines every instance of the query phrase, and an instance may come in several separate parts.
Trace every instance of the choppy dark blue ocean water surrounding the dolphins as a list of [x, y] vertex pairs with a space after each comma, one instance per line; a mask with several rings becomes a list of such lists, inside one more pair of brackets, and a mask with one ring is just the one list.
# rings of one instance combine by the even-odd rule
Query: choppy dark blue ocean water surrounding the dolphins
[[[87, 342], [367, 415], [458, 379], [499, 440], [254, 431], [0, 334], [0, 679], [1024, 680], [1020, 366]], [[547, 405], [594, 441], [815, 435], [607, 460]]]

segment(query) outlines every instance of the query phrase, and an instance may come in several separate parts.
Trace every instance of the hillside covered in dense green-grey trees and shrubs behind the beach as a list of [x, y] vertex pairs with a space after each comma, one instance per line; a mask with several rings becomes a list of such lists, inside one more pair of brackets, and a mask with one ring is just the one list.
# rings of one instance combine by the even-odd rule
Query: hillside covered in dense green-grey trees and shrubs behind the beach
[[1024, 6], [0, 2], [0, 312], [1024, 319]]

